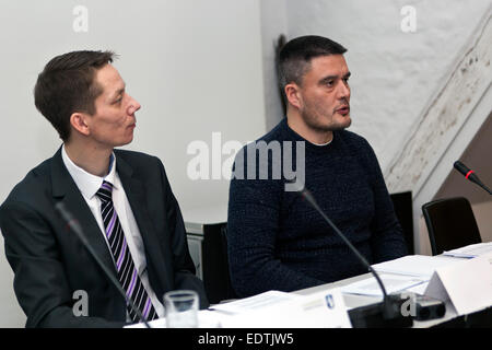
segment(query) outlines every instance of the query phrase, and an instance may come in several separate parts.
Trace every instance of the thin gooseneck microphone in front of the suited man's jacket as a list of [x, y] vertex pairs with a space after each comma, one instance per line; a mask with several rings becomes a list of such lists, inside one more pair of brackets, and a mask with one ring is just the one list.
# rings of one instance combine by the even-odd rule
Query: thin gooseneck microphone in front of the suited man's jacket
[[103, 264], [103, 261], [101, 261], [101, 258], [97, 256], [97, 254], [94, 252], [94, 248], [87, 242], [87, 238], [85, 237], [82, 226], [80, 225], [75, 217], [72, 215], [72, 213], [65, 207], [65, 203], [62, 203], [61, 201], [58, 201], [55, 205], [55, 209], [61, 215], [67, 225], [77, 234], [77, 236], [80, 238], [80, 241], [89, 250], [89, 253], [91, 253], [94, 260], [103, 269], [104, 273], [109, 279], [109, 281], [112, 281], [112, 283], [116, 287], [116, 289], [122, 295], [125, 301], [130, 305], [131, 310], [137, 314], [137, 316], [139, 316], [140, 320], [143, 322], [147, 328], [151, 328], [151, 326], [147, 322], [145, 317], [143, 317], [140, 310], [133, 304], [133, 302], [129, 298], [127, 298], [127, 293], [122, 289], [121, 283], [113, 276], [112, 271], [109, 271], [109, 269]]

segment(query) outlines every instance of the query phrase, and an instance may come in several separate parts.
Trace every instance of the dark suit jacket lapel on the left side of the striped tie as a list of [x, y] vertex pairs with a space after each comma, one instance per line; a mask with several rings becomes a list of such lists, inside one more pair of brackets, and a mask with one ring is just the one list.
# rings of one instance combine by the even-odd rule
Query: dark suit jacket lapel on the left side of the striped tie
[[82, 197], [82, 194], [63, 164], [61, 148], [52, 158], [51, 182], [55, 201], [61, 200], [66, 208], [79, 220], [89, 244], [102, 259], [103, 264], [105, 264], [116, 277], [115, 265], [113, 264], [106, 241], [104, 240], [103, 233], [101, 232], [91, 209], [85, 202], [85, 199]]

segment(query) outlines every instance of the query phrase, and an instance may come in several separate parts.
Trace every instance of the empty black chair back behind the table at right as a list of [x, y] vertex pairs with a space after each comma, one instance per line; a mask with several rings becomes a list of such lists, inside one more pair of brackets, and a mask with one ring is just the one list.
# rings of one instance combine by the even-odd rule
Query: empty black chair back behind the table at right
[[422, 206], [432, 255], [481, 243], [470, 202], [464, 197], [438, 199]]

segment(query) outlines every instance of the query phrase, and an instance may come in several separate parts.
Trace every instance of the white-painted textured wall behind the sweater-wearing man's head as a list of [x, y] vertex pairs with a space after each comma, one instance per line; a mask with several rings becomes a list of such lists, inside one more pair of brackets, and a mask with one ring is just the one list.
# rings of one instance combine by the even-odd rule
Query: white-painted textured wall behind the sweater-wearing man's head
[[[323, 35], [349, 49], [345, 58], [352, 72], [353, 119], [350, 129], [370, 141], [387, 173], [490, 0], [285, 0], [284, 3], [284, 33], [289, 38]], [[414, 33], [400, 28], [403, 5], [417, 10]], [[276, 24], [271, 21], [274, 15], [262, 14], [262, 25], [270, 28], [270, 37], [276, 37], [272, 33]], [[268, 47], [263, 37], [265, 49]], [[270, 59], [268, 52], [263, 59]], [[266, 90], [272, 86], [273, 82], [266, 82]], [[267, 116], [278, 116], [280, 102], [277, 106], [267, 104], [266, 110]]]

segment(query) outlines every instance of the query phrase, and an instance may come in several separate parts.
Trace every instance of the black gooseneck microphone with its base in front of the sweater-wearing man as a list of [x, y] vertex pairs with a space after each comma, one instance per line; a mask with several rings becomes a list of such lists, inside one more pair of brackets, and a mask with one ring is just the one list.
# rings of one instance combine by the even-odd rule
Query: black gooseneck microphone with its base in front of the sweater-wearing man
[[318, 211], [323, 219], [333, 229], [333, 231], [340, 236], [340, 238], [349, 246], [353, 254], [361, 260], [361, 262], [373, 273], [383, 291], [383, 302], [370, 304], [366, 306], [355, 307], [349, 311], [350, 320], [354, 328], [366, 327], [410, 327], [413, 325], [411, 317], [406, 317], [401, 313], [401, 306], [405, 303], [405, 299], [400, 294], [387, 294], [385, 285], [380, 280], [377, 272], [372, 268], [367, 260], [361, 253], [350, 243], [345, 235], [331, 222], [331, 220], [319, 208], [313, 195], [304, 187], [297, 190], [303, 198], [305, 198], [309, 205]]

